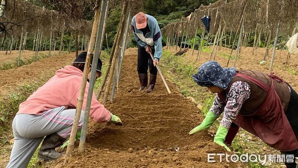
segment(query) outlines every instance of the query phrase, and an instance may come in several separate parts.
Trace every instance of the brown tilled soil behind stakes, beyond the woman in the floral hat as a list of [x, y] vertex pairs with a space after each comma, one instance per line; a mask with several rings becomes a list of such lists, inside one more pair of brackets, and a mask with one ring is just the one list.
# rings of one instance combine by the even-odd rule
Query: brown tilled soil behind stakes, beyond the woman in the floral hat
[[[179, 47], [178, 47], [179, 49]], [[210, 48], [212, 50], [212, 47]], [[236, 68], [243, 70], [255, 70], [261, 71], [265, 73], [270, 73], [270, 62], [272, 57], [272, 49], [269, 50], [269, 54], [267, 56], [266, 64], [260, 65], [259, 63], [263, 60], [265, 48], [258, 48], [254, 55], [252, 55], [252, 47], [242, 47], [237, 59]], [[175, 47], [171, 46], [169, 51], [176, 53], [178, 50], [175, 50]], [[233, 51], [232, 57], [235, 55], [235, 50]], [[229, 55], [230, 49], [222, 47], [218, 52], [215, 60], [219, 62], [222, 66], [226, 66], [228, 58], [225, 58], [222, 53]], [[291, 55], [289, 60], [289, 65], [286, 65], [287, 60], [287, 50], [276, 50], [276, 55], [273, 64], [273, 72], [287, 81], [295, 90], [298, 91], [298, 55]], [[186, 59], [186, 62], [195, 62], [197, 59], [198, 51], [194, 51], [194, 55], [192, 56], [192, 49], [189, 49]], [[200, 60], [198, 61], [198, 67], [209, 61], [210, 53], [201, 53]], [[214, 60], [214, 53], [212, 56], [212, 60]], [[228, 67], [232, 67], [234, 60], [231, 59]]]

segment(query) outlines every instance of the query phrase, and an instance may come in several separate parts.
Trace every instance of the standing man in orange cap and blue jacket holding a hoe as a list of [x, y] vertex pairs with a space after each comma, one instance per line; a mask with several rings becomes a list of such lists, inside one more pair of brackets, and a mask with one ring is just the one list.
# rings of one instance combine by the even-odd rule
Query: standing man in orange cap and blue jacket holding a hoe
[[[147, 71], [149, 67], [150, 80], [149, 87], [146, 90], [146, 92], [149, 93], [154, 88], [157, 77], [157, 69], [155, 66], [159, 63], [162, 54], [160, 28], [157, 20], [153, 16], [139, 12], [132, 19], [132, 30], [138, 43], [137, 69], [141, 84], [139, 90], [144, 90], [148, 86]], [[154, 56], [154, 60], [151, 59], [150, 52]]]

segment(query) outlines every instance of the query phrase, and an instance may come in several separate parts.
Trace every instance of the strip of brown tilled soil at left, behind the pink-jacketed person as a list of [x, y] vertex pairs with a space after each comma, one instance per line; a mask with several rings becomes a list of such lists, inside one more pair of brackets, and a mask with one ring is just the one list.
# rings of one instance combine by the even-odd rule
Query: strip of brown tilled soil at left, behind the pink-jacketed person
[[[30, 55], [30, 52], [27, 53]], [[23, 55], [25, 56], [26, 54]], [[31, 84], [40, 82], [42, 81], [41, 79], [49, 79], [49, 77], [54, 75], [55, 71], [71, 64], [74, 58], [74, 53], [63, 54], [45, 58], [19, 68], [0, 71], [0, 97], [5, 97], [16, 90], [18, 84]]]

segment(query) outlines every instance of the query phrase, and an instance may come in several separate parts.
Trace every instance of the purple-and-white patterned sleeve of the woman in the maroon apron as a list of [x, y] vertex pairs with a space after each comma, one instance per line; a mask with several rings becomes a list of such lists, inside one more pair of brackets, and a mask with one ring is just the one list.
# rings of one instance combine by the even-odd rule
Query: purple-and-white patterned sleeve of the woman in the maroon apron
[[250, 96], [250, 86], [246, 82], [237, 81], [233, 83], [227, 93], [227, 102], [224, 107], [224, 116], [221, 126], [229, 128], [237, 117], [243, 102]]

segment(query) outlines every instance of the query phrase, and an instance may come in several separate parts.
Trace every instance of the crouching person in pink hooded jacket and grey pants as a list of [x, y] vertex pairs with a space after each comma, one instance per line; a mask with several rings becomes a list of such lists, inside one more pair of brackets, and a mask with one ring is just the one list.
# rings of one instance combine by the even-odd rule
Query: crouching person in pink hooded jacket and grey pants
[[[71, 134], [86, 55], [87, 52], [80, 53], [72, 65], [56, 71], [54, 77], [19, 105], [12, 122], [14, 144], [7, 168], [26, 168], [43, 139], [39, 159], [56, 160], [61, 156], [55, 148], [61, 146]], [[99, 59], [96, 78], [101, 76], [101, 66]], [[88, 87], [87, 82], [78, 129], [84, 119]], [[94, 122], [122, 125], [119, 117], [96, 100], [94, 92], [89, 116]]]

